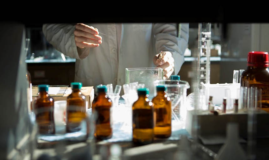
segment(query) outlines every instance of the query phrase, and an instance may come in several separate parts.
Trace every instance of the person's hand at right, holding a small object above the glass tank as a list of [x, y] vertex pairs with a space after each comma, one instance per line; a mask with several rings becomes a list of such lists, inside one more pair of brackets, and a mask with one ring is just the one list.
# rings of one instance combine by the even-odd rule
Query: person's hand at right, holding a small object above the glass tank
[[158, 68], [164, 69], [164, 79], [168, 79], [174, 72], [174, 58], [170, 52], [161, 51], [161, 53], [156, 54], [153, 58], [153, 63]]

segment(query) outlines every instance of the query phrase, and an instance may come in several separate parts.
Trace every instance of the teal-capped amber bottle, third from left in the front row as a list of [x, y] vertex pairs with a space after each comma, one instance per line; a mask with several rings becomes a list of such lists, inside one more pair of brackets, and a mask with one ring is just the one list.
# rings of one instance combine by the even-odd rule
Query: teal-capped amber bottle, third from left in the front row
[[98, 96], [93, 102], [93, 114], [96, 116], [95, 137], [109, 139], [112, 137], [112, 122], [110, 122], [112, 101], [106, 95], [106, 86], [98, 86]]

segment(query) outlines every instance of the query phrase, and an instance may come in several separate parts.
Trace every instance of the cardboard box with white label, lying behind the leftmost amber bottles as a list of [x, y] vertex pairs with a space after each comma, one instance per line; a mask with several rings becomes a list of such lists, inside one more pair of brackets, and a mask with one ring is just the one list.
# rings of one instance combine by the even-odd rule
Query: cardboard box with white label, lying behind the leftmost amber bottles
[[[50, 86], [49, 95], [54, 101], [66, 101], [67, 97], [72, 93], [72, 88], [68, 86]], [[81, 92], [88, 101], [88, 108], [92, 107], [94, 100], [94, 88], [93, 87], [81, 87]], [[33, 101], [38, 96], [38, 86], [32, 86]]]

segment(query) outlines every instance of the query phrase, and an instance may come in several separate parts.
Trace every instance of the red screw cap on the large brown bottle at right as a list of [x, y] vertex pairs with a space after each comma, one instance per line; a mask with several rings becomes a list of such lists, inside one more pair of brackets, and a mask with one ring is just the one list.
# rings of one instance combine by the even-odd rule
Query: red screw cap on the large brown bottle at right
[[247, 55], [247, 66], [253, 67], [268, 67], [268, 53], [267, 52], [249, 52]]

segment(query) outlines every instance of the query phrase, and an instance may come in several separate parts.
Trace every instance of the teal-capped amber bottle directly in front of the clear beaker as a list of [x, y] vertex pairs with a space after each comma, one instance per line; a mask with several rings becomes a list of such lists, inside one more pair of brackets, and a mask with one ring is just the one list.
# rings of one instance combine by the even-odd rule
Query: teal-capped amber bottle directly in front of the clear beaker
[[154, 136], [168, 138], [171, 136], [171, 101], [165, 94], [165, 86], [157, 86], [157, 95], [152, 99], [156, 113]]

